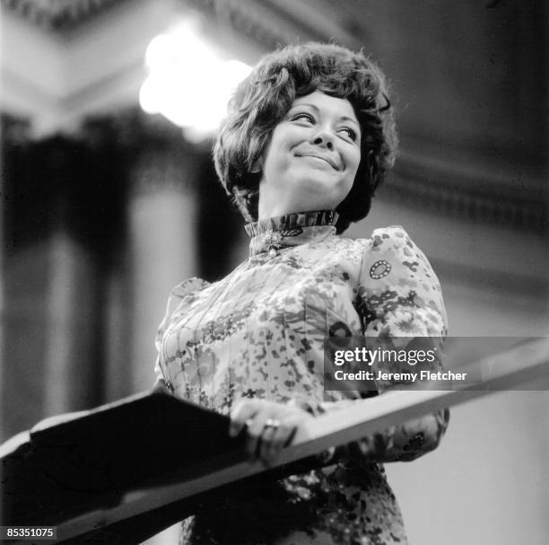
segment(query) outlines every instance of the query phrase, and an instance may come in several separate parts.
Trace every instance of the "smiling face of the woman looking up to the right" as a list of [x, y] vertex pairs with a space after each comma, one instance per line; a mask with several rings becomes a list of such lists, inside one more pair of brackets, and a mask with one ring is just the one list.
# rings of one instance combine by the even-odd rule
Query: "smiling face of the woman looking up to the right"
[[261, 158], [259, 217], [333, 209], [361, 161], [361, 128], [346, 99], [311, 92], [274, 127]]

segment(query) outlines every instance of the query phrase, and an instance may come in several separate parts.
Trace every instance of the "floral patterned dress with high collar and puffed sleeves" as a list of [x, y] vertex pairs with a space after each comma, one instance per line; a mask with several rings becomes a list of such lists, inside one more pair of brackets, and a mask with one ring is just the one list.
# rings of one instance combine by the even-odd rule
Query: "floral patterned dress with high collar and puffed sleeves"
[[[248, 224], [249, 258], [229, 276], [174, 288], [156, 340], [156, 370], [174, 395], [222, 414], [248, 397], [318, 415], [360, 397], [323, 389], [324, 338], [334, 330], [445, 336], [439, 282], [402, 227], [353, 241], [335, 235], [335, 220], [321, 211]], [[378, 382], [374, 393], [392, 386]], [[214, 506], [197, 505], [180, 542], [406, 543], [382, 463], [431, 451], [448, 421], [448, 411], [416, 418], [348, 445], [332, 461], [327, 454], [324, 467], [272, 484], [239, 483]]]

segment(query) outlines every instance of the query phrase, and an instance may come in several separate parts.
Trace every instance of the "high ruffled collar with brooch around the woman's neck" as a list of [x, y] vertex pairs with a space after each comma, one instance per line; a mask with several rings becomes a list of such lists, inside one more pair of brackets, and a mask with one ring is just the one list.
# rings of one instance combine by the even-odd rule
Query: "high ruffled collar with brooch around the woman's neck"
[[335, 233], [337, 217], [334, 210], [319, 210], [269, 217], [247, 224], [246, 233], [251, 238], [249, 255], [268, 252], [274, 257], [283, 248], [325, 238]]

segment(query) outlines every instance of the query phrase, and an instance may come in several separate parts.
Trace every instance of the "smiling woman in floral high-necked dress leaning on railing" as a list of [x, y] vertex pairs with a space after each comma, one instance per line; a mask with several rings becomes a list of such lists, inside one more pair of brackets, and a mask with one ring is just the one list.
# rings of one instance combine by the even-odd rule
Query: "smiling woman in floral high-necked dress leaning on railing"
[[[308, 418], [360, 398], [323, 390], [325, 336], [436, 343], [446, 333], [437, 278], [401, 227], [336, 236], [367, 215], [395, 152], [384, 77], [346, 48], [275, 51], [231, 101], [214, 159], [249, 222], [249, 258], [219, 282], [173, 290], [157, 372], [175, 395], [231, 414], [231, 435], [246, 433], [250, 457], [266, 465]], [[376, 382], [374, 393], [394, 385]], [[405, 543], [380, 464], [431, 451], [448, 419], [418, 418], [327, 453], [323, 468], [235, 487], [197, 507], [182, 542]]]

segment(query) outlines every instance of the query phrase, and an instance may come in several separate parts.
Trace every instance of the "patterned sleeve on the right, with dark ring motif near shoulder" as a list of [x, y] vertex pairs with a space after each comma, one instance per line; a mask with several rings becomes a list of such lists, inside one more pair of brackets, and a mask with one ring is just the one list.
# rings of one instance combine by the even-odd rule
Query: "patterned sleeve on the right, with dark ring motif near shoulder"
[[[434, 353], [440, 355], [430, 364], [431, 370], [442, 368], [441, 348], [448, 328], [440, 284], [429, 261], [402, 227], [377, 229], [366, 244], [355, 307], [365, 337], [396, 338], [400, 343], [421, 337], [422, 347], [429, 349], [431, 343]], [[377, 374], [375, 364], [371, 369]], [[376, 385], [382, 394], [397, 384]], [[322, 403], [310, 412], [331, 412], [353, 402]], [[435, 449], [448, 424], [449, 410], [443, 409], [335, 449], [333, 459], [411, 461]]]

